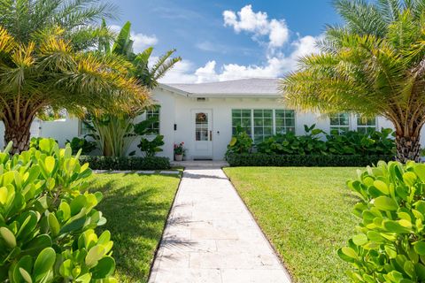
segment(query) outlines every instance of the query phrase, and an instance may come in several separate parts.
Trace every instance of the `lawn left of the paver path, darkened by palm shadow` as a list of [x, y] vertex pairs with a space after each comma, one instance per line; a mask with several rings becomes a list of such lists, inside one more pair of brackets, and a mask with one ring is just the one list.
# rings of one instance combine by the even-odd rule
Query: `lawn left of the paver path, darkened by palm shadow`
[[96, 174], [90, 180], [104, 199], [98, 205], [112, 233], [119, 282], [147, 282], [180, 176]]

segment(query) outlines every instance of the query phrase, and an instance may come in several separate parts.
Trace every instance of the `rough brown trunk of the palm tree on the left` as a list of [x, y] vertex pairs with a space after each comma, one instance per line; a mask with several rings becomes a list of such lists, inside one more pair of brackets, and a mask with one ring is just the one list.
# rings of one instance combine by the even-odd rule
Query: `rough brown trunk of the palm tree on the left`
[[4, 121], [4, 145], [13, 142], [12, 154], [20, 153], [29, 148], [31, 123], [32, 119], [30, 122], [22, 121], [21, 123]]

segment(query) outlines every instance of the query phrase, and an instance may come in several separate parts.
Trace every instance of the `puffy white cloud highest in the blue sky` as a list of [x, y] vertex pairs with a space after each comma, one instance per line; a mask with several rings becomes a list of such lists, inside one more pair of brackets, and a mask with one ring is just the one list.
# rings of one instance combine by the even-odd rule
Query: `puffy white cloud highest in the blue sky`
[[251, 5], [244, 6], [241, 11], [223, 11], [225, 27], [233, 27], [236, 33], [241, 31], [253, 34], [253, 39], [268, 36], [268, 46], [272, 49], [282, 47], [290, 38], [290, 30], [284, 19], [268, 19], [267, 12], [252, 11]]

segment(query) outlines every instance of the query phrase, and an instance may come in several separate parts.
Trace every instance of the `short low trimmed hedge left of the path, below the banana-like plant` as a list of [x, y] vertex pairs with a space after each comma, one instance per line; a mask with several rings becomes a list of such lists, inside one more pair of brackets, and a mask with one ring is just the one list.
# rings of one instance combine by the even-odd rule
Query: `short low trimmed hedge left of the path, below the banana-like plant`
[[164, 170], [170, 169], [167, 157], [99, 157], [81, 156], [81, 164], [89, 163], [93, 170]]

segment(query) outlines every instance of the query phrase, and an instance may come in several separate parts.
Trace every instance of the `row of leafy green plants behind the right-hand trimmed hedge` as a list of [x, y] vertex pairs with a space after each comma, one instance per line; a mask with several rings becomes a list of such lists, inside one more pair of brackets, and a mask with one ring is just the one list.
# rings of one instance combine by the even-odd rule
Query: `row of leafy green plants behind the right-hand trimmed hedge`
[[278, 134], [257, 145], [260, 153], [277, 155], [391, 155], [395, 151], [391, 129], [359, 133], [348, 131], [326, 134], [313, 126], [304, 126], [305, 135]]

